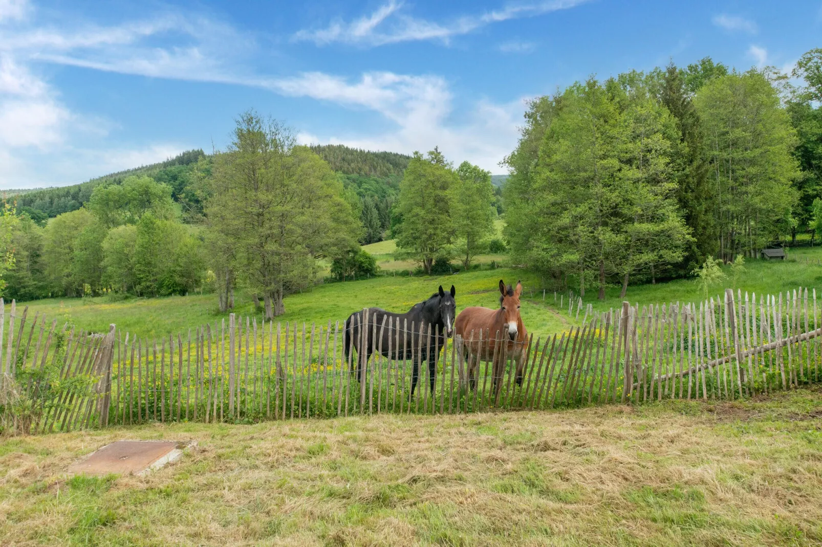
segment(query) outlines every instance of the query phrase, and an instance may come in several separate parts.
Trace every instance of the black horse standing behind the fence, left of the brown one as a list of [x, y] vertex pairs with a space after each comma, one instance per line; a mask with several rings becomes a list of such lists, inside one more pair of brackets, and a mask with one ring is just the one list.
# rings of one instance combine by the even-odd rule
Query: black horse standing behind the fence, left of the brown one
[[[389, 359], [410, 359], [413, 362], [413, 372], [411, 376], [411, 395], [417, 387], [419, 375], [418, 360], [428, 361], [428, 378], [431, 381], [431, 393], [434, 393], [434, 360], [440, 353], [442, 346], [446, 343], [446, 336], [451, 337], [454, 330], [454, 317], [456, 315], [456, 301], [454, 296], [456, 289], [451, 285], [450, 292], [444, 292], [442, 285], [438, 292], [431, 298], [414, 304], [413, 308], [404, 314], [395, 314], [381, 308], [368, 308], [357, 311], [349, 315], [345, 320], [345, 358], [349, 358], [352, 348], [357, 350], [357, 379], [363, 381], [363, 352], [360, 350], [362, 337], [360, 326], [363, 324], [363, 313], [367, 313], [366, 327], [366, 347], [365, 361], [371, 357], [372, 353], [382, 348], [382, 356]], [[382, 320], [386, 318], [383, 327]], [[389, 329], [389, 322], [391, 328]], [[375, 332], [376, 336], [373, 335]], [[430, 328], [430, 330], [429, 330]], [[408, 329], [405, 331], [404, 329]], [[399, 343], [397, 333], [399, 330]], [[423, 342], [420, 343], [420, 333], [423, 333]], [[380, 336], [382, 335], [382, 338]], [[389, 338], [390, 350], [389, 350]], [[436, 340], [435, 340], [436, 338]], [[435, 349], [436, 348], [436, 349]], [[429, 351], [430, 349], [430, 351]], [[352, 363], [353, 366], [353, 363]]]

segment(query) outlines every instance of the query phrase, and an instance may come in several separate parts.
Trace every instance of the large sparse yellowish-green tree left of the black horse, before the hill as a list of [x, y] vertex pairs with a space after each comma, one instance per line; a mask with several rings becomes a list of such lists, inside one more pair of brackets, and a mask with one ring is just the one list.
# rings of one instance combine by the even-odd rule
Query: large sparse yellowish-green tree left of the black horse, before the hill
[[236, 271], [263, 295], [269, 319], [284, 313], [287, 292], [311, 283], [318, 258], [356, 241], [358, 223], [334, 172], [276, 122], [243, 113], [212, 173], [209, 228], [237, 249]]

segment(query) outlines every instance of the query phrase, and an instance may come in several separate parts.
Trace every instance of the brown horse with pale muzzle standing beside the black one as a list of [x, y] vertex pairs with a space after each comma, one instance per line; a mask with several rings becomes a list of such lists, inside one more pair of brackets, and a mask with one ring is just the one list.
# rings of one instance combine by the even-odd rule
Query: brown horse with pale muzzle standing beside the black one
[[[522, 385], [524, 356], [528, 345], [528, 333], [520, 317], [522, 283], [511, 288], [500, 279], [500, 307], [498, 310], [473, 306], [459, 312], [454, 324], [455, 333], [463, 340], [463, 357], [469, 367], [469, 383], [474, 388], [474, 373], [479, 361], [492, 362], [495, 393], [502, 387], [502, 376], [508, 358], [516, 363], [516, 383]], [[499, 338], [497, 338], [499, 337]], [[496, 347], [502, 337], [506, 347]]]

